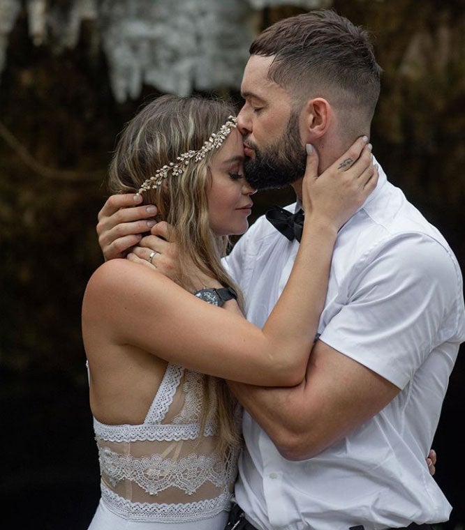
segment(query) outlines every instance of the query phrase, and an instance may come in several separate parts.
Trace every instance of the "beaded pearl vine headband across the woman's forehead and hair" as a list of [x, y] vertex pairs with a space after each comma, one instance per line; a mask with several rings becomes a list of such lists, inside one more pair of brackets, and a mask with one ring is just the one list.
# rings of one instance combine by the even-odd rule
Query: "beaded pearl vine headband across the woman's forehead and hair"
[[147, 179], [142, 183], [138, 195], [141, 195], [142, 192], [148, 190], [156, 190], [156, 188], [161, 185], [163, 179], [166, 179], [169, 172], [172, 172], [174, 176], [182, 175], [184, 171], [186, 171], [186, 167], [191, 160], [199, 162], [202, 158], [205, 158], [208, 151], [219, 149], [221, 144], [223, 144], [230, 134], [232, 127], [237, 127], [237, 118], [235, 118], [235, 116], [228, 116], [228, 121], [221, 126], [221, 129], [218, 132], [213, 132], [201, 149], [198, 151], [187, 151], [186, 153], [182, 153], [182, 155], [177, 157], [176, 164], [170, 162], [168, 165], [164, 165], [161, 169], [157, 169], [154, 176], [151, 176], [150, 179]]

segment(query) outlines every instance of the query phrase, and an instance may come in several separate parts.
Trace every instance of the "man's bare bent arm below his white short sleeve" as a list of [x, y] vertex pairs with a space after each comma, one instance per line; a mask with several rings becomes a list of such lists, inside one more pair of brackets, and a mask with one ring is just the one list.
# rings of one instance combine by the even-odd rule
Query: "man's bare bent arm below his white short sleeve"
[[390, 381], [320, 340], [311, 351], [306, 378], [298, 386], [229, 384], [288, 460], [317, 455], [399, 393]]

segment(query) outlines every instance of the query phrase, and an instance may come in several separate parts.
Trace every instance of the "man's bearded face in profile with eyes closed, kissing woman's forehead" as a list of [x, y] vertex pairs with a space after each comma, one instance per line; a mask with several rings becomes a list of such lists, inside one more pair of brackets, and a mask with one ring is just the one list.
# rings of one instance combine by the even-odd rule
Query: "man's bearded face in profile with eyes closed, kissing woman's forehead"
[[306, 154], [300, 135], [299, 113], [290, 95], [268, 79], [273, 57], [252, 55], [244, 70], [237, 116], [244, 137], [246, 179], [253, 188], [283, 188], [305, 172]]

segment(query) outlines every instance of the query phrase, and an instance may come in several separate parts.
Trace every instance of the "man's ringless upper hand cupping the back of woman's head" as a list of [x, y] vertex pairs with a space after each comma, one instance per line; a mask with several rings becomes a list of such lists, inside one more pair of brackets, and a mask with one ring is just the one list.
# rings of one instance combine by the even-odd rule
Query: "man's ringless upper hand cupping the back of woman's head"
[[156, 206], [137, 206], [141, 202], [142, 197], [134, 193], [111, 195], [98, 212], [96, 230], [105, 261], [125, 257], [155, 225]]

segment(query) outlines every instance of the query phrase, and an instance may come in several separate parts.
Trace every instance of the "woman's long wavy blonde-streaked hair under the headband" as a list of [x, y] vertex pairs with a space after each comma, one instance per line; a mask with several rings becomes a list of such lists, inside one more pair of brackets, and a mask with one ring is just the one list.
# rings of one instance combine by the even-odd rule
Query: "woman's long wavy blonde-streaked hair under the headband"
[[[129, 121], [119, 136], [108, 174], [111, 193], [137, 192], [156, 169], [189, 150], [197, 151], [217, 132], [235, 109], [221, 100], [198, 97], [160, 96]], [[220, 148], [221, 149], [221, 148]], [[186, 285], [182, 256], [190, 259], [222, 285], [232, 287], [243, 298], [238, 286], [221, 266], [229, 239], [214, 234], [209, 225], [207, 190], [211, 184], [209, 167], [218, 150], [209, 151], [199, 162], [190, 162], [182, 175], [169, 174], [156, 190], [142, 193], [145, 204], [156, 204], [157, 220], [165, 220], [176, 230], [179, 245], [179, 283]], [[213, 390], [212, 390], [213, 389]], [[239, 443], [237, 401], [226, 382], [205, 376], [203, 392], [206, 407], [201, 427], [205, 429], [209, 409], [216, 403], [220, 448]]]

